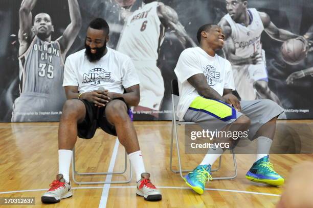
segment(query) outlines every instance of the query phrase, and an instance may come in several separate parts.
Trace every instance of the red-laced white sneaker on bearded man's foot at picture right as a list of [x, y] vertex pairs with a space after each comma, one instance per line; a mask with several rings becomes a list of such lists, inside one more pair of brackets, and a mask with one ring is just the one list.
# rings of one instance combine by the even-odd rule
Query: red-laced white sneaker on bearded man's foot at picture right
[[143, 196], [147, 201], [159, 201], [162, 199], [161, 192], [151, 183], [150, 173], [142, 173], [141, 180], [137, 182], [136, 194]]

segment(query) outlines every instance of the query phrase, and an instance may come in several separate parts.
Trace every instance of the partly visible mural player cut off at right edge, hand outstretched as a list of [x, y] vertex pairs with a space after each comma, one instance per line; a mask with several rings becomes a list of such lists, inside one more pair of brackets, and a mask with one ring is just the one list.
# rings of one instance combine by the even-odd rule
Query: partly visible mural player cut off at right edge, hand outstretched
[[295, 66], [295, 68], [297, 68], [299, 70], [299, 68], [304, 68], [309, 66], [308, 68], [302, 69], [300, 71], [295, 71], [292, 74], [290, 74], [287, 79], [286, 82], [288, 85], [290, 84], [294, 84], [294, 80], [297, 79], [301, 79], [304, 76], [313, 76], [313, 54], [311, 53], [311, 51], [313, 51], [313, 24], [311, 25], [311, 27], [309, 28], [309, 30], [305, 33], [305, 35], [303, 36], [307, 41], [308, 41], [308, 47], [306, 48], [306, 58], [301, 61], [299, 64], [297, 64]]

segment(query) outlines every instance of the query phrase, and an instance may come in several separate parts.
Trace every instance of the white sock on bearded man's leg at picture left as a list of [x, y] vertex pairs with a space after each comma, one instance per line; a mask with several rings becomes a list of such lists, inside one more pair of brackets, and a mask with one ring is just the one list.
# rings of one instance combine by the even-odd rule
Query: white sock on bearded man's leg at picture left
[[66, 183], [70, 182], [70, 165], [72, 160], [72, 150], [59, 149], [59, 174], [63, 174]]

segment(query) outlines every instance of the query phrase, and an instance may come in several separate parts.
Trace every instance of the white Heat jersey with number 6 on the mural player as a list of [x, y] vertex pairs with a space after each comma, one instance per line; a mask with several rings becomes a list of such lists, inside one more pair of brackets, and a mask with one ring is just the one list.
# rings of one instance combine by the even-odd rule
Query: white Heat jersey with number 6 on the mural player
[[158, 2], [152, 2], [127, 18], [118, 51], [133, 61], [157, 61], [159, 47], [164, 39], [164, 27], [157, 10]]

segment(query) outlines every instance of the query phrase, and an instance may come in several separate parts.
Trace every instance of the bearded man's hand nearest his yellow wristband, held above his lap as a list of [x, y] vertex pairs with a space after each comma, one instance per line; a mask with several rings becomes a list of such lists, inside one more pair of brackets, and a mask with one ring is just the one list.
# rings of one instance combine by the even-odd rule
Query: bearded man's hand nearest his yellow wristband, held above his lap
[[89, 102], [95, 103], [95, 106], [104, 107], [106, 103], [110, 101], [108, 96], [108, 90], [94, 90], [91, 92], [84, 92], [80, 98]]

